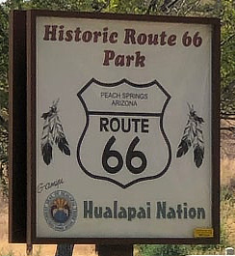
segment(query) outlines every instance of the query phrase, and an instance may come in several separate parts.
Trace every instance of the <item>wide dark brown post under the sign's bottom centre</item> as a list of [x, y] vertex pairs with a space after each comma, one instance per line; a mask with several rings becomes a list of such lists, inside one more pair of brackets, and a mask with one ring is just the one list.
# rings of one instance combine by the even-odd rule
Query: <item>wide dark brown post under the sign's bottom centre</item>
[[98, 256], [133, 256], [133, 244], [95, 245]]

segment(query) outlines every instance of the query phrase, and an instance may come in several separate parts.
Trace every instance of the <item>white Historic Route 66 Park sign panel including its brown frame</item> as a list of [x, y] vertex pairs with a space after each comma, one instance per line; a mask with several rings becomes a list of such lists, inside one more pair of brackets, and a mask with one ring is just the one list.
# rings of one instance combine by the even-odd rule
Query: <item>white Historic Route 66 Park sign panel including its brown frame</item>
[[27, 20], [28, 240], [218, 242], [218, 19]]

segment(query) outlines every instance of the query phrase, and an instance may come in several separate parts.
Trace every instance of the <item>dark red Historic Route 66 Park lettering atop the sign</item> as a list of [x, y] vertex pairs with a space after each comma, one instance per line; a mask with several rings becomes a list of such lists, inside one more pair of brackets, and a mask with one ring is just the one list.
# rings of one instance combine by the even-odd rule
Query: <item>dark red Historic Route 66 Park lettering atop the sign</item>
[[[83, 30], [81, 27], [75, 29], [66, 29], [65, 25], [45, 25], [43, 41], [65, 42], [65, 43], [107, 43], [114, 45], [123, 43], [123, 45], [149, 45], [149, 46], [174, 46], [178, 41], [178, 36], [167, 31], [158, 33], [145, 33], [136, 31], [134, 28], [123, 29], [123, 34], [118, 35], [117, 31], [110, 31], [108, 27], [101, 30]], [[189, 31], [180, 35], [180, 43], [183, 46], [199, 47], [202, 44], [202, 38], [199, 32], [190, 35]], [[105, 49], [103, 51], [103, 66], [109, 67], [145, 67], [145, 56], [140, 50], [131, 54], [116, 52], [114, 49]]]

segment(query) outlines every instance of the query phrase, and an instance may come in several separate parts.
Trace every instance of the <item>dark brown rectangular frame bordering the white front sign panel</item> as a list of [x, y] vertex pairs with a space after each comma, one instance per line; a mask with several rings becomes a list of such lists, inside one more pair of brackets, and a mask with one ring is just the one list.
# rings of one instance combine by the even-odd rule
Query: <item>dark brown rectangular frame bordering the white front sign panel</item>
[[[36, 234], [36, 18], [79, 17], [172, 23], [210, 24], [212, 27], [212, 227], [214, 238], [40, 238]], [[89, 14], [27, 11], [27, 242], [28, 243], [218, 243], [220, 241], [220, 20], [134, 14]]]

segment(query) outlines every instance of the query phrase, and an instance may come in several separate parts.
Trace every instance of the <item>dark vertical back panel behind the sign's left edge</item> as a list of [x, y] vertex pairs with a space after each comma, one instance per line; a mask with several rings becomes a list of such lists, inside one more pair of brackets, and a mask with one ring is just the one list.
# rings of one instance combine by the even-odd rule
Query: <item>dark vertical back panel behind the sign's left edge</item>
[[26, 242], [26, 12], [10, 15], [9, 40], [9, 241]]

